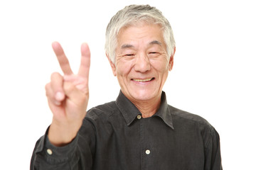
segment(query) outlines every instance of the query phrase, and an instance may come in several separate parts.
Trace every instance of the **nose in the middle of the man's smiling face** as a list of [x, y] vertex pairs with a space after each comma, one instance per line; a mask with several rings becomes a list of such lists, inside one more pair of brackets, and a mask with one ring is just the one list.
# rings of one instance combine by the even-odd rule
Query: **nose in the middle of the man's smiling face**
[[149, 57], [141, 54], [137, 55], [135, 63], [134, 63], [134, 70], [137, 72], [147, 72], [151, 69]]

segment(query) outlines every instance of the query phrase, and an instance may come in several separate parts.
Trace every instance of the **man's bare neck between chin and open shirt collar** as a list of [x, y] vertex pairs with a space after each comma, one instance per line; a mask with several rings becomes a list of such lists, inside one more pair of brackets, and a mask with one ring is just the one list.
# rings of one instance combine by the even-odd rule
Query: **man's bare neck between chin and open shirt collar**
[[142, 118], [149, 118], [159, 109], [161, 94], [150, 101], [132, 101], [132, 103], [139, 109], [140, 113], [142, 113]]

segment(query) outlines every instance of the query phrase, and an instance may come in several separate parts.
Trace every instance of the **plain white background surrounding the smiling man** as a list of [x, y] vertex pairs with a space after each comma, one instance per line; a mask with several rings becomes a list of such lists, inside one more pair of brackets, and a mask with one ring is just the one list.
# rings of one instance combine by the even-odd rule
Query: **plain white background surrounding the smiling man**
[[[174, 69], [169, 104], [206, 118], [220, 134], [224, 169], [255, 168], [256, 25], [253, 1], [0, 1], [0, 169], [29, 169], [50, 125], [45, 84], [60, 72], [58, 40], [76, 72], [80, 45], [92, 54], [88, 108], [119, 93], [105, 57], [105, 28], [128, 4], [151, 4], [169, 19]], [[4, 157], [4, 158], [3, 158]]]

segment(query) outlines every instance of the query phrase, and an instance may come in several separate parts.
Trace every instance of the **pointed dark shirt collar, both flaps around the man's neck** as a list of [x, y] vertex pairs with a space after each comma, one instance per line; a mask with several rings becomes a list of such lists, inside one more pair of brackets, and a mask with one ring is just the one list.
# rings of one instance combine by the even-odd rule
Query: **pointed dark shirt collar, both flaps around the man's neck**
[[[142, 113], [139, 112], [138, 108], [136, 108], [136, 106], [134, 106], [134, 104], [131, 101], [129, 101], [129, 99], [126, 96], [124, 96], [124, 94], [122, 94], [122, 91], [119, 92], [116, 104], [119, 108], [119, 111], [121, 111], [122, 115], [124, 116], [127, 125], [131, 125], [131, 123], [134, 121], [137, 115], [142, 115]], [[166, 94], [164, 93], [164, 91], [162, 91], [161, 94], [161, 105], [159, 107], [159, 110], [156, 111], [156, 113], [153, 116], [158, 116], [164, 121], [164, 123], [166, 123], [166, 125], [174, 129], [173, 121], [171, 118], [171, 112], [169, 110], [166, 101]]]

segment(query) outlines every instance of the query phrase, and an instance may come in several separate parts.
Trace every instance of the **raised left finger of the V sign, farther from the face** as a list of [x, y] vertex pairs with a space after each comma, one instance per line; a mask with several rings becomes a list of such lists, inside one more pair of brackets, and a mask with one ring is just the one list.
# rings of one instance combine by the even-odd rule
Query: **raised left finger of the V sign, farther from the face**
[[53, 42], [52, 44], [53, 51], [57, 56], [58, 62], [60, 64], [60, 68], [62, 69], [64, 74], [73, 74], [72, 69], [70, 68], [70, 64], [68, 62], [68, 58], [65, 56], [63, 48], [61, 47], [59, 42]]

